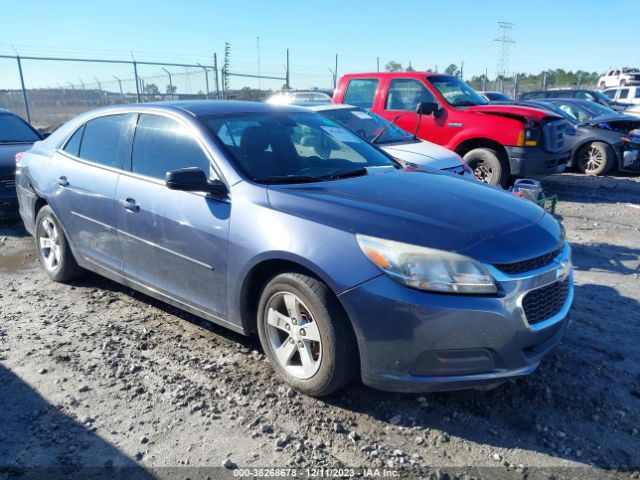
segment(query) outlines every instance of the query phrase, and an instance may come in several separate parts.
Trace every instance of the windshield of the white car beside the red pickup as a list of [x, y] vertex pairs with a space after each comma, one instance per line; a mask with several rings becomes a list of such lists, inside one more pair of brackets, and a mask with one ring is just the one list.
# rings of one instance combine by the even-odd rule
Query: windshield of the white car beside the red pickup
[[377, 144], [414, 142], [408, 132], [402, 130], [386, 118], [382, 118], [364, 108], [336, 108], [318, 112], [320, 115], [339, 123], [356, 135]]

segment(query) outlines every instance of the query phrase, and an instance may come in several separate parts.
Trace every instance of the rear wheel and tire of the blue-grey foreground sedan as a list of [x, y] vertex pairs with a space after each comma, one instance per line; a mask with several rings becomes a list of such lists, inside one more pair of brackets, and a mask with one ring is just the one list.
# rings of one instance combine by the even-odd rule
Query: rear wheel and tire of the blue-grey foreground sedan
[[47, 275], [56, 282], [66, 282], [82, 275], [83, 270], [73, 257], [60, 222], [48, 205], [36, 216], [36, 249]]

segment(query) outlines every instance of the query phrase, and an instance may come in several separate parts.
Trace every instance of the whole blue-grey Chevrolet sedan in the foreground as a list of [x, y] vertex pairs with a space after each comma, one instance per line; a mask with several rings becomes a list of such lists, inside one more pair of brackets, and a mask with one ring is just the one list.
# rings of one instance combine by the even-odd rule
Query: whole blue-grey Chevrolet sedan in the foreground
[[91, 270], [257, 334], [313, 396], [358, 375], [420, 392], [530, 374], [573, 298], [569, 244], [538, 206], [296, 107], [89, 112], [21, 158], [17, 189], [53, 280]]

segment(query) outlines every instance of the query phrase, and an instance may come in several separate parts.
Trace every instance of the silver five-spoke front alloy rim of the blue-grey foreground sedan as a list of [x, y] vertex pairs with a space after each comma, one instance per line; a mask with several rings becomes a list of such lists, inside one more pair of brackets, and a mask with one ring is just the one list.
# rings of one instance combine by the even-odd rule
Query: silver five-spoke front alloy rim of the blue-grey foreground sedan
[[313, 377], [322, 360], [318, 324], [300, 298], [290, 292], [273, 295], [265, 307], [269, 344], [280, 366], [300, 380]]

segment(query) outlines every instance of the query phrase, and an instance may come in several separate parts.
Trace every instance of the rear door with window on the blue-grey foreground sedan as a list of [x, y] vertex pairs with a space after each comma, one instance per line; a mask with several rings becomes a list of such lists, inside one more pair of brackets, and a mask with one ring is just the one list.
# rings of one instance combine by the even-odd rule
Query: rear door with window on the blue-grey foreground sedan
[[50, 205], [75, 247], [87, 260], [119, 272], [115, 192], [131, 147], [129, 114], [89, 120], [69, 137], [50, 162]]

